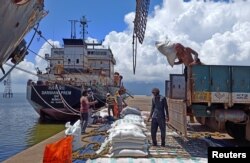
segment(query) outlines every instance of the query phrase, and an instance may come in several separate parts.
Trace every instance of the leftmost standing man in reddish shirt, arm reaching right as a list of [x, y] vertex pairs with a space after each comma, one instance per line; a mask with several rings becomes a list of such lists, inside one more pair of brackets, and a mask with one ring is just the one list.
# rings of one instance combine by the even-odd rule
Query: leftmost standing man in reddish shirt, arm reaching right
[[89, 106], [95, 105], [96, 103], [98, 103], [97, 100], [95, 100], [93, 102], [89, 102], [88, 92], [86, 90], [84, 90], [82, 92], [82, 97], [80, 99], [81, 132], [82, 132], [82, 134], [85, 133], [86, 127], [88, 125]]

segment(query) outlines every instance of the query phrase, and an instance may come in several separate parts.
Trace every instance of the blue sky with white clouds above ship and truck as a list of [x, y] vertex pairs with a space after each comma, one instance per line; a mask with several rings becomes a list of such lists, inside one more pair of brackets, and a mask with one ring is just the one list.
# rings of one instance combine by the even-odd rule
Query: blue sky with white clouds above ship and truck
[[[180, 42], [199, 53], [205, 64], [249, 65], [250, 62], [250, 2], [151, 0], [144, 42], [138, 46], [136, 74], [132, 69], [132, 33], [135, 0], [45, 0], [48, 15], [40, 22], [39, 30], [51, 43], [62, 46], [62, 38], [70, 37], [70, 22], [86, 16], [88, 39], [103, 40], [110, 47], [123, 75], [125, 87], [133, 94], [149, 94], [152, 87], [164, 88], [169, 74], [182, 73], [182, 66], [171, 67], [158, 52], [155, 41]], [[78, 28], [79, 26], [77, 26]], [[78, 28], [79, 29], [79, 28]], [[77, 30], [78, 30], [77, 29]], [[27, 36], [29, 41], [33, 31]], [[79, 30], [77, 36], [80, 36]], [[30, 49], [41, 56], [50, 53], [51, 46], [36, 37]], [[42, 71], [46, 62], [30, 53], [19, 67]], [[5, 69], [8, 69], [5, 67]], [[25, 92], [32, 75], [19, 70], [12, 73], [14, 92]], [[0, 83], [0, 92], [4, 90]], [[164, 94], [164, 92], [162, 92]]]

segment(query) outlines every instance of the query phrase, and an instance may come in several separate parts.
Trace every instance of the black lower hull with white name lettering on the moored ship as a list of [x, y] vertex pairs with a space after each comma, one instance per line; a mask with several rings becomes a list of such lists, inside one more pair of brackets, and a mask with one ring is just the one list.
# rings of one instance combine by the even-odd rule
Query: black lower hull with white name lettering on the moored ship
[[[92, 86], [94, 97], [98, 101], [95, 109], [105, 106], [107, 92], [115, 92], [118, 87]], [[83, 88], [84, 89], [84, 88]], [[100, 91], [101, 90], [101, 91]], [[67, 85], [43, 85], [29, 81], [27, 100], [40, 115], [41, 120], [75, 121], [80, 118], [80, 87]]]

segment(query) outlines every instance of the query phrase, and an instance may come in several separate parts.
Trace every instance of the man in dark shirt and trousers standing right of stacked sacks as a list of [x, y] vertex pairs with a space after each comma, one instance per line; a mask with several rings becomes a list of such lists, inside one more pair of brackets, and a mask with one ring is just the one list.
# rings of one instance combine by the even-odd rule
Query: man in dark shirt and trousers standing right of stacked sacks
[[161, 130], [161, 146], [165, 146], [166, 138], [166, 120], [168, 121], [168, 106], [166, 98], [160, 95], [160, 90], [154, 88], [152, 90], [153, 99], [152, 99], [152, 108], [148, 121], [152, 118], [151, 121], [151, 137], [153, 146], [157, 146], [156, 133], [158, 127]]

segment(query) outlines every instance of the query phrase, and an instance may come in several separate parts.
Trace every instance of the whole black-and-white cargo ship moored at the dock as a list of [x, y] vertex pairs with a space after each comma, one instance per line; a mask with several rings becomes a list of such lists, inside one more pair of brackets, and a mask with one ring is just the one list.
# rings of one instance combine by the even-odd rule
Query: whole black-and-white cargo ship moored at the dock
[[[79, 21], [85, 33], [87, 19]], [[27, 99], [41, 119], [79, 119], [81, 92], [90, 89], [98, 103], [105, 105], [106, 94], [123, 87], [122, 76], [114, 71], [116, 60], [102, 43], [87, 43], [84, 36], [63, 39], [63, 47], [52, 47], [46, 72], [37, 71], [38, 80], [28, 80]]]

